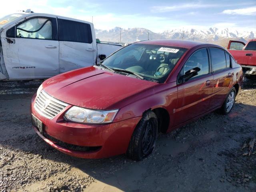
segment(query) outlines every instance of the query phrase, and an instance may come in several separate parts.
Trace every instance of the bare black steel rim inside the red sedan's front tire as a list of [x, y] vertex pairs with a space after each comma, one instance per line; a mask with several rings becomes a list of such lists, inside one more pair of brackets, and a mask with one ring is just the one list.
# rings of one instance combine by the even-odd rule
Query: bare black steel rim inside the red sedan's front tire
[[142, 152], [144, 155], [147, 155], [148, 152], [152, 149], [152, 145], [154, 144], [154, 123], [150, 119], [146, 124], [144, 136], [142, 138]]

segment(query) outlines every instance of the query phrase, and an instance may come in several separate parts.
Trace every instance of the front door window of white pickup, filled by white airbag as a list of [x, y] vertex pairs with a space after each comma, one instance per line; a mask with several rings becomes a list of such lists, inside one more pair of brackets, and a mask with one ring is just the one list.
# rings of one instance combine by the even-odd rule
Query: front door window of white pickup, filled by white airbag
[[16, 37], [52, 39], [52, 22], [48, 18], [32, 18], [16, 27]]

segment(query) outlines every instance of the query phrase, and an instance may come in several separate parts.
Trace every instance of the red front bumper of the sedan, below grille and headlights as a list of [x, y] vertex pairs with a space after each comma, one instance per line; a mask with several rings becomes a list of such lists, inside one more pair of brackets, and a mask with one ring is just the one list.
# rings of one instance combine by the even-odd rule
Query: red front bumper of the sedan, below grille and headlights
[[[48, 119], [34, 109], [35, 98], [36, 96], [32, 98], [32, 114], [42, 121], [45, 126], [43, 134], [34, 127], [36, 133], [53, 148], [79, 158], [106, 158], [126, 153], [132, 133], [141, 118], [136, 117], [110, 124], [66, 122], [63, 120], [63, 115], [71, 107], [67, 106], [54, 118]], [[54, 138], [54, 140], [50, 138]], [[72, 150], [58, 145], [55, 140], [66, 143], [65, 146], [70, 144], [93, 150]]]

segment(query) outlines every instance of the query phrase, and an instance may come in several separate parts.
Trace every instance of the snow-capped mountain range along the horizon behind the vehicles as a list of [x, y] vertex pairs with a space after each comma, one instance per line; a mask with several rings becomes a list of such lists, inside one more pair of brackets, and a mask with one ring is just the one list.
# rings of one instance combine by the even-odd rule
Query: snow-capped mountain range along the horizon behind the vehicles
[[[101, 41], [120, 42], [120, 28], [110, 30], [95, 29], [96, 38]], [[132, 43], [142, 40], [154, 39], [183, 39], [200, 42], [210, 42], [226, 46], [228, 40], [240, 40], [246, 42], [256, 38], [256, 30], [236, 30], [233, 28], [208, 28], [208, 29], [171, 29], [160, 33], [152, 32], [145, 28], [121, 29], [121, 42]]]

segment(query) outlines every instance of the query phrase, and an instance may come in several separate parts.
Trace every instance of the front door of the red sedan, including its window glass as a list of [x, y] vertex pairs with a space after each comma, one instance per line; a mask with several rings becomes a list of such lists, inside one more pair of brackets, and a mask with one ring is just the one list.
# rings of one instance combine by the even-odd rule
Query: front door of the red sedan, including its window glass
[[198, 67], [198, 75], [178, 84], [178, 102], [174, 124], [182, 124], [208, 111], [212, 96], [213, 75], [210, 70], [207, 48], [194, 52], [184, 64], [180, 75]]

